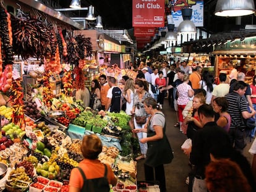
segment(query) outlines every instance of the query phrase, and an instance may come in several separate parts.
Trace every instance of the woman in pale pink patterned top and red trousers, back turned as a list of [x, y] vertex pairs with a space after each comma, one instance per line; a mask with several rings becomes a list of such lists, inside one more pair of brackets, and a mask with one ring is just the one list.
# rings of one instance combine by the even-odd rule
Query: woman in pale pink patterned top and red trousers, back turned
[[183, 78], [183, 83], [177, 86], [177, 105], [178, 105], [178, 114], [179, 114], [179, 124], [183, 122], [182, 111], [186, 107], [187, 102], [189, 102], [189, 98], [194, 96], [194, 90], [188, 84], [189, 83], [189, 75], [185, 74]]

